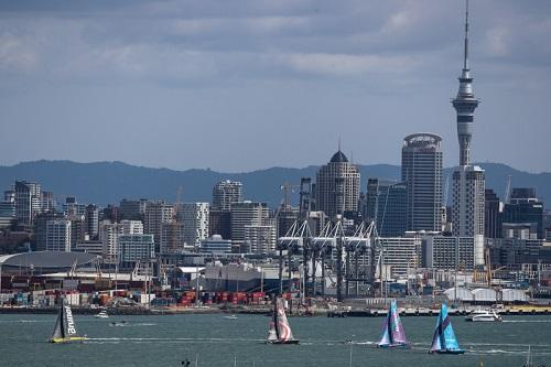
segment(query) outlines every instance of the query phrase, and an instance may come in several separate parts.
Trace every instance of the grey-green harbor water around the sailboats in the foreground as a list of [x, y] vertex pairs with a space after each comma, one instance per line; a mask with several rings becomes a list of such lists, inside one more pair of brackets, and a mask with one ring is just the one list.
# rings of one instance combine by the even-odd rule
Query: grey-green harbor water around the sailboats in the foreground
[[[410, 349], [378, 349], [382, 319], [291, 317], [300, 345], [263, 343], [270, 319], [220, 314], [75, 315], [82, 344], [47, 343], [54, 315], [0, 315], [1, 366], [479, 366], [517, 367], [528, 346], [534, 366], [551, 367], [551, 316], [505, 316], [501, 323], [452, 317], [464, 355], [429, 355], [435, 317], [403, 317]], [[122, 321], [125, 321], [122, 323]], [[116, 323], [116, 325], [114, 325]], [[352, 344], [344, 342], [352, 339]]]

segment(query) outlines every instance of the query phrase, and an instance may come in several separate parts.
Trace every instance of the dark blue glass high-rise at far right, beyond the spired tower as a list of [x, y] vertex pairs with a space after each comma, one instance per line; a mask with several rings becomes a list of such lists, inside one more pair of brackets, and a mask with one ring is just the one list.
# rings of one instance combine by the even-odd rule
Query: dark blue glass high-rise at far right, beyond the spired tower
[[[545, 238], [543, 203], [537, 197], [534, 188], [512, 188], [509, 203], [504, 207], [503, 223], [503, 226], [509, 227], [509, 230], [515, 227], [511, 225], [522, 225], [528, 228], [530, 239]], [[514, 238], [515, 236], [505, 237]]]

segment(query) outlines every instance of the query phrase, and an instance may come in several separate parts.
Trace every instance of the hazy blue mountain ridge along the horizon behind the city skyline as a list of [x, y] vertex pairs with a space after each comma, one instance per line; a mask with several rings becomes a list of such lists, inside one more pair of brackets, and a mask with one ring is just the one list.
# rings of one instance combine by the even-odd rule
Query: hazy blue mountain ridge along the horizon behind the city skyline
[[[511, 187], [534, 187], [544, 203], [551, 199], [551, 173], [530, 173], [516, 170], [503, 163], [476, 163], [486, 170], [486, 187], [504, 197], [507, 177]], [[399, 180], [400, 166], [395, 164], [356, 164], [361, 174], [361, 191], [367, 177]], [[54, 195], [75, 196], [80, 203], [100, 205], [116, 204], [122, 198], [164, 199], [174, 202], [180, 185], [184, 202], [210, 202], [213, 186], [222, 180], [237, 180], [244, 183], [247, 199], [267, 202], [277, 206], [283, 194], [281, 184], [298, 184], [303, 176], [315, 180], [318, 165], [305, 168], [272, 166], [249, 172], [217, 172], [210, 169], [184, 171], [168, 168], [148, 168], [121, 161], [74, 162], [69, 160], [37, 160], [13, 165], [0, 165], [0, 191], [9, 190], [15, 180], [39, 182], [43, 190]], [[443, 170], [444, 187], [454, 168]], [[450, 176], [450, 179], [449, 179]], [[451, 194], [451, 182], [450, 192]], [[296, 193], [291, 198], [296, 201]]]

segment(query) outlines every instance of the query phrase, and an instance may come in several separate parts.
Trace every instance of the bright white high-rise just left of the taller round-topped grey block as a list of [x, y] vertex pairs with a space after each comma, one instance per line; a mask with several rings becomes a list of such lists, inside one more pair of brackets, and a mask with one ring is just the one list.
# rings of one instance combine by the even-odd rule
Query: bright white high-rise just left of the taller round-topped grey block
[[180, 212], [184, 225], [184, 241], [187, 246], [199, 248], [201, 241], [208, 238], [208, 203], [185, 203]]

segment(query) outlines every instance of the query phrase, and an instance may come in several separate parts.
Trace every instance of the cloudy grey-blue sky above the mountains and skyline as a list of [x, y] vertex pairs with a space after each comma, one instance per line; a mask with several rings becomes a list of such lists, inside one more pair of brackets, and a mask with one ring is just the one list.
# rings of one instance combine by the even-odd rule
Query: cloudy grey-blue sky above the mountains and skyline
[[[0, 1], [0, 164], [458, 162], [462, 0]], [[472, 0], [473, 160], [551, 171], [551, 2]]]

